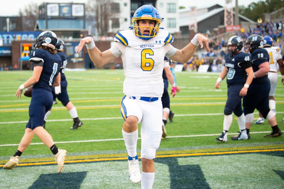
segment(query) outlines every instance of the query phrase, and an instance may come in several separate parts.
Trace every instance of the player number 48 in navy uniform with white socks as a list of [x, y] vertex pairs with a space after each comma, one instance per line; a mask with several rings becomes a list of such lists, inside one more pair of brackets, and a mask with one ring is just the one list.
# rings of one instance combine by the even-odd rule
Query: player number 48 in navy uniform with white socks
[[227, 133], [233, 121], [233, 112], [237, 116], [240, 134], [232, 140], [247, 140], [245, 115], [242, 109], [242, 98], [246, 96], [254, 77], [248, 53], [243, 53], [243, 41], [239, 36], [232, 36], [227, 43], [228, 53], [225, 55], [225, 67], [216, 81], [219, 89], [221, 81], [227, 75], [227, 102], [224, 109], [223, 131], [216, 141], [227, 142]]

